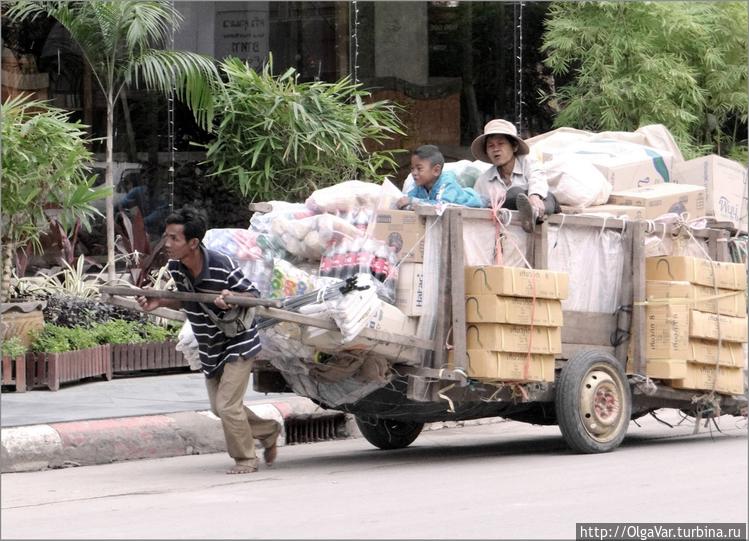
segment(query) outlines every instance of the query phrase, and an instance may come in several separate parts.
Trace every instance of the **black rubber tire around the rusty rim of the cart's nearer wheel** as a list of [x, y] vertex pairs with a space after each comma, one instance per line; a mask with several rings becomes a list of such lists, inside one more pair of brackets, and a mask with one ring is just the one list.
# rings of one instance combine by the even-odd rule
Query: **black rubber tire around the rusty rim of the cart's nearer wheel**
[[[583, 382], [593, 370], [601, 370], [611, 377], [621, 401], [613, 433], [598, 437], [591, 433], [583, 420]], [[567, 445], [579, 453], [606, 453], [616, 449], [627, 434], [632, 415], [632, 394], [621, 364], [608, 353], [588, 350], [570, 358], [562, 367], [556, 383], [554, 405], [557, 423]]]

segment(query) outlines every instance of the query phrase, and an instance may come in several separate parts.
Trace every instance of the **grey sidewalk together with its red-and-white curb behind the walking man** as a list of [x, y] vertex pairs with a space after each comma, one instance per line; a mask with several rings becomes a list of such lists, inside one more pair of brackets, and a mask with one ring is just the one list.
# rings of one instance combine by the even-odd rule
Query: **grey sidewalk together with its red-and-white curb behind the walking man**
[[[95, 380], [0, 396], [2, 472], [106, 464], [226, 450], [197, 372]], [[248, 390], [245, 404], [284, 424], [324, 414], [294, 394]], [[285, 444], [285, 435], [281, 445]]]

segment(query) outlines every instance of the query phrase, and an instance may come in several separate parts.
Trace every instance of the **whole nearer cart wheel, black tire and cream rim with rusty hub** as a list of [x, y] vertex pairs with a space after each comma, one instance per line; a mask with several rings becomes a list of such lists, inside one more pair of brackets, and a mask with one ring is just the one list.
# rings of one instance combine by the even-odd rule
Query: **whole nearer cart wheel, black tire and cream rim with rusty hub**
[[557, 422], [567, 445], [580, 453], [605, 453], [624, 439], [632, 397], [619, 362], [599, 351], [569, 359], [556, 384]]

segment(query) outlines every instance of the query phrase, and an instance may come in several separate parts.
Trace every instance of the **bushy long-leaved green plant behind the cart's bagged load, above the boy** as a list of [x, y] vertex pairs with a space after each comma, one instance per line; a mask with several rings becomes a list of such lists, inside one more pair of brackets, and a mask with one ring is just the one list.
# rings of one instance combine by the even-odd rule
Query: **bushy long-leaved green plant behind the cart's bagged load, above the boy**
[[237, 58], [221, 69], [225, 92], [206, 156], [244, 196], [303, 197], [342, 180], [378, 181], [395, 167], [392, 152], [368, 147], [403, 134], [397, 105], [367, 103], [370, 94], [348, 77], [300, 83], [293, 68], [274, 76], [272, 59], [260, 72]]

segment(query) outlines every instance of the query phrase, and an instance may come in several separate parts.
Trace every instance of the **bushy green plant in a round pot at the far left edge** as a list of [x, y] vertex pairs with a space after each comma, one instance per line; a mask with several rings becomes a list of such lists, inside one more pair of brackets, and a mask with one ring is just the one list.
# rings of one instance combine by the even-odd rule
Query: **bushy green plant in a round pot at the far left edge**
[[17, 258], [23, 261], [27, 250], [40, 250], [40, 238], [49, 229], [51, 212], [64, 227], [80, 220], [88, 228], [90, 218], [97, 212], [92, 201], [105, 197], [108, 191], [93, 188], [86, 132], [82, 124], [69, 121], [69, 113], [23, 95], [7, 100], [0, 110], [0, 327], [2, 337], [19, 336], [28, 345], [28, 331], [43, 324], [43, 303], [8, 302]]

